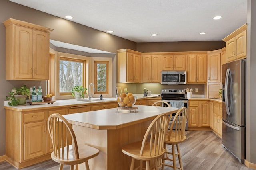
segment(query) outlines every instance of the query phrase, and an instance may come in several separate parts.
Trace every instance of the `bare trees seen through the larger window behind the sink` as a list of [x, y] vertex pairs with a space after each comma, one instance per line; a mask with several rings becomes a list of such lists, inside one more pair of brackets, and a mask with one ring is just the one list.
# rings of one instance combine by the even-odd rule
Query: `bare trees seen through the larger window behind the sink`
[[83, 85], [83, 62], [60, 60], [60, 93]]

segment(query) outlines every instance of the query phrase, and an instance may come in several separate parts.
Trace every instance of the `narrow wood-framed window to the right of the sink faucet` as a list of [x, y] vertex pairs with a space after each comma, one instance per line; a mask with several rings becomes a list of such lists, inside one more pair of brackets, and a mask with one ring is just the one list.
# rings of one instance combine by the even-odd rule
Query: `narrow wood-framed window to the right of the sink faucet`
[[94, 61], [95, 94], [108, 94], [108, 61]]

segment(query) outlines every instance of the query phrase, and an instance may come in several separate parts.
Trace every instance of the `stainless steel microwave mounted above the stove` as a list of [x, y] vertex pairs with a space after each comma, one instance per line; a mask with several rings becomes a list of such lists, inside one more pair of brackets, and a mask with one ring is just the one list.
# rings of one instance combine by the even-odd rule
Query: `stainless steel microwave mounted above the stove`
[[186, 84], [186, 71], [162, 71], [161, 84]]

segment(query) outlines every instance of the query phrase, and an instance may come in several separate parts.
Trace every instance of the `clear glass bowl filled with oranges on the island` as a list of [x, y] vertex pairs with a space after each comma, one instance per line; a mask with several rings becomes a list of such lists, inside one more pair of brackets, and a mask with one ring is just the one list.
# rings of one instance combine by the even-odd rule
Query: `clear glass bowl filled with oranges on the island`
[[119, 106], [122, 108], [130, 108], [133, 107], [136, 102], [136, 96], [133, 96], [132, 93], [122, 93], [119, 97], [116, 98]]

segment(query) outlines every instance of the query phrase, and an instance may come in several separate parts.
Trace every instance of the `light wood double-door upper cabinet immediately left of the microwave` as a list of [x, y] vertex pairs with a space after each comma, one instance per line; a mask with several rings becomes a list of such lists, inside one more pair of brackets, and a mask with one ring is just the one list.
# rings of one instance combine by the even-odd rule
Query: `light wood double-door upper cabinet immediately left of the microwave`
[[160, 55], [142, 56], [142, 82], [160, 83]]

